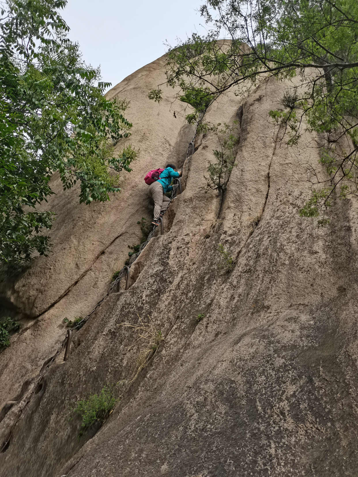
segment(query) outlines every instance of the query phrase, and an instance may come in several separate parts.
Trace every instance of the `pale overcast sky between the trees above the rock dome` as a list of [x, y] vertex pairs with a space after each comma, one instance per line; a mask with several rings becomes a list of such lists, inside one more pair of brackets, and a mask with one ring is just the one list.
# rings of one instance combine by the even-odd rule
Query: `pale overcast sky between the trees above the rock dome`
[[116, 85], [156, 60], [177, 37], [205, 34], [200, 0], [68, 0], [60, 10], [83, 59], [101, 66], [103, 81]]

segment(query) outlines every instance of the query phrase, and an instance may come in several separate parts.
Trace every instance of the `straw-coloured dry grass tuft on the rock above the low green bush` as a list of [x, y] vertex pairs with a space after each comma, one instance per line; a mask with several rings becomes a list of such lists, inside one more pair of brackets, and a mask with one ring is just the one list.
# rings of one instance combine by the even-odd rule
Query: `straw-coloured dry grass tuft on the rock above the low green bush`
[[[138, 333], [137, 340], [128, 347], [132, 348], [138, 342], [142, 343], [141, 350], [137, 357], [137, 362], [134, 366], [132, 376], [129, 380], [128, 389], [131, 384], [137, 379], [139, 373], [147, 366], [151, 358], [157, 353], [160, 343], [164, 340], [164, 336], [160, 330], [154, 326], [153, 321], [149, 318], [149, 323], [144, 323], [140, 316], [138, 315], [139, 324], [134, 323], [120, 323], [118, 326], [127, 326], [129, 328], [134, 328]], [[128, 390], [127, 389], [127, 390]]]

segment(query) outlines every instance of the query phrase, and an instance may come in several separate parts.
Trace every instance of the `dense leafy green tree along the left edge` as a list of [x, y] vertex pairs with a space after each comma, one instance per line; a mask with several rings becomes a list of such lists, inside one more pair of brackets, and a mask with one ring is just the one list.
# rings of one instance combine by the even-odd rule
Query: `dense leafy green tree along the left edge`
[[66, 3], [9, 0], [1, 10], [0, 262], [12, 266], [51, 245], [42, 231], [53, 213], [36, 206], [53, 193], [53, 172], [64, 189], [79, 181], [80, 203], [106, 201], [120, 192], [116, 172], [130, 172], [138, 154], [129, 145], [113, 157], [116, 142], [130, 135], [127, 103], [105, 98], [110, 83], [98, 82], [99, 69], [66, 38], [58, 13]]

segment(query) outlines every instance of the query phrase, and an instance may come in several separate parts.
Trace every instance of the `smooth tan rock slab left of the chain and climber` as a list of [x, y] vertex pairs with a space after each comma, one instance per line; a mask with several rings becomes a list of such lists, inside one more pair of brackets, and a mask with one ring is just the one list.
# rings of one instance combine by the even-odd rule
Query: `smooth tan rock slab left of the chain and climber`
[[[147, 98], [148, 91], [164, 81], [163, 58], [128, 76], [110, 92], [130, 101], [126, 111], [133, 122], [133, 135], [119, 141], [117, 148], [131, 143], [141, 154], [133, 172], [121, 173], [120, 194], [110, 202], [79, 204], [78, 190], [63, 192], [55, 174], [55, 195], [46, 207], [56, 221], [50, 236], [50, 258], [40, 257], [21, 277], [0, 282], [0, 312], [21, 319], [21, 333], [11, 348], [1, 353], [0, 405], [21, 390], [24, 380], [35, 376], [53, 348], [63, 340], [63, 318], [85, 316], [105, 294], [116, 270], [128, 258], [128, 245], [138, 243], [141, 231], [137, 221], [152, 219], [144, 176], [165, 165], [172, 157], [185, 158], [193, 128], [170, 110], [173, 91], [164, 92], [160, 106]], [[181, 109], [183, 105], [179, 103]], [[183, 161], [183, 159], [182, 159]]]

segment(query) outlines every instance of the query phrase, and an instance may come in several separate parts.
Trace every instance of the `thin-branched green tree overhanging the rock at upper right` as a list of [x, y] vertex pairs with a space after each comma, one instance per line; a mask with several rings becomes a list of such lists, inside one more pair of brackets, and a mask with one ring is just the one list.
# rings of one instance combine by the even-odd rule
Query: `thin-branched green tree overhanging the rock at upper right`
[[[263, 77], [301, 75], [305, 93], [288, 91], [283, 102], [289, 111], [270, 112], [274, 122], [285, 125], [289, 145], [297, 144], [304, 119], [309, 131], [326, 140], [320, 162], [328, 178], [317, 176], [300, 214], [318, 217], [335, 193], [357, 195], [358, 3], [205, 0], [200, 11], [213, 25], [211, 31], [205, 38], [193, 35], [168, 52], [167, 84], [179, 85], [189, 97], [200, 92], [212, 102], [244, 82], [247, 91]], [[229, 41], [219, 40], [222, 31]], [[306, 68], [314, 68], [313, 76], [305, 75]], [[158, 87], [157, 100], [159, 92]], [[318, 221], [326, 222], [324, 217]]]

